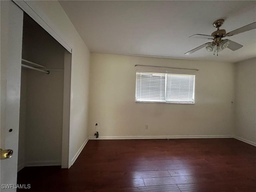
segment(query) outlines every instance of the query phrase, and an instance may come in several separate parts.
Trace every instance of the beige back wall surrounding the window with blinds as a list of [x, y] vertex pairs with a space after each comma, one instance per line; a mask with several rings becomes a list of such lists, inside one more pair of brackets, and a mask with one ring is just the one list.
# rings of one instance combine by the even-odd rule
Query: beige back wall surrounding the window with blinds
[[[195, 104], [136, 103], [136, 64], [200, 69], [189, 71], [196, 75]], [[232, 135], [232, 101], [234, 64], [91, 54], [90, 136], [94, 135], [96, 122], [103, 138]]]

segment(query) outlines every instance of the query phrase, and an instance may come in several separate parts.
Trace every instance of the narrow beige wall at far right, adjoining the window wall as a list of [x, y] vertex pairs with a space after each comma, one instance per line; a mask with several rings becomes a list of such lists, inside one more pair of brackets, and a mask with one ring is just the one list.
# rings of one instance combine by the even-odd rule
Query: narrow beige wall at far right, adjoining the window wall
[[256, 58], [236, 63], [235, 135], [256, 145]]

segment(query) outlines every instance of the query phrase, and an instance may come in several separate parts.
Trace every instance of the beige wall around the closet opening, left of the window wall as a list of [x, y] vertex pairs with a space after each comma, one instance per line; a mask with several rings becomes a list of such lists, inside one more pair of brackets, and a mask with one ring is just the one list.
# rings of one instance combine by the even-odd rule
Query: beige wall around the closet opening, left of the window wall
[[58, 1], [26, 3], [72, 48], [69, 166], [88, 138], [90, 51]]

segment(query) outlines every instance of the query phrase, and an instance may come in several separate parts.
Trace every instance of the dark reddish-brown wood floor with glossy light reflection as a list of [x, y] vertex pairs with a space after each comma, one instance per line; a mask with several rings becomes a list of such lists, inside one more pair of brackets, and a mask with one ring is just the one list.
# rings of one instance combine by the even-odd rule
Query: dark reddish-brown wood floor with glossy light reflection
[[35, 192], [256, 192], [256, 147], [235, 139], [89, 140], [69, 169], [26, 167]]

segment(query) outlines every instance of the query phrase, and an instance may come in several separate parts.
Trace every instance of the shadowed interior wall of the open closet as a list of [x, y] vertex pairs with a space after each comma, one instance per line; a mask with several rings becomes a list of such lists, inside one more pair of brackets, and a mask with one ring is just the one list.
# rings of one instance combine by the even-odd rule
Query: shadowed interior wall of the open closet
[[[24, 14], [22, 58], [64, 69], [65, 49]], [[61, 165], [64, 71], [44, 74], [22, 68], [18, 170]]]

